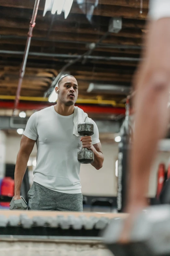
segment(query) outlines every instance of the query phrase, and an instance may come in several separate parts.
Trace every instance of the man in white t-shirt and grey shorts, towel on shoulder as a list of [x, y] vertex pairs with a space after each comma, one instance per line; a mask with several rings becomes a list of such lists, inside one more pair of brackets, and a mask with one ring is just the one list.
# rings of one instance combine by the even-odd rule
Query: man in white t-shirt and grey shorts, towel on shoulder
[[[78, 134], [78, 137], [73, 134], [74, 104], [78, 97], [78, 83], [75, 77], [62, 77], [55, 92], [58, 94], [57, 105], [35, 112], [29, 118], [21, 138], [15, 168], [14, 200], [21, 198], [21, 182], [36, 142], [37, 163], [34, 183], [28, 192], [29, 209], [82, 212], [83, 196], [77, 153], [82, 147], [92, 150], [92, 166], [99, 170], [104, 161], [99, 132], [95, 122], [88, 118], [94, 125], [92, 137], [80, 138]], [[81, 111], [81, 114], [83, 112], [81, 109], [78, 111]], [[83, 114], [87, 116], [84, 112]]]

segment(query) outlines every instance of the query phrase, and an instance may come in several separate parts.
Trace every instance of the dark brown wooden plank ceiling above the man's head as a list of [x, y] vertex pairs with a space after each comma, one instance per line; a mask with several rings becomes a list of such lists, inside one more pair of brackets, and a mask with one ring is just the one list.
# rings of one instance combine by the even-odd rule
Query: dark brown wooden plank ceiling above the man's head
[[[87, 93], [91, 82], [130, 87], [148, 13], [148, 0], [143, 0], [140, 13], [141, 1], [99, 0], [89, 22], [77, 0], [66, 20], [63, 13], [43, 17], [45, 0], [40, 0], [21, 96], [43, 97], [63, 66], [106, 34], [111, 17], [122, 17], [121, 31], [108, 33], [85, 63], [80, 60], [67, 71], [78, 80], [79, 98], [96, 99], [99, 93]], [[94, 0], [85, 2], [88, 7]], [[34, 4], [34, 0], [0, 0], [0, 95], [16, 94]], [[101, 96], [117, 103], [125, 98], [108, 92]]]

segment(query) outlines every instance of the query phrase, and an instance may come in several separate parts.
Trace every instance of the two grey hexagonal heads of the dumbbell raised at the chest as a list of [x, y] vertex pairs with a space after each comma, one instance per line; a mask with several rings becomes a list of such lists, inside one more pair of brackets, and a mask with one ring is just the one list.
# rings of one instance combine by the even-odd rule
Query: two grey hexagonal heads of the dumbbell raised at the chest
[[[90, 123], [78, 124], [78, 134], [82, 137], [92, 136], [94, 126]], [[94, 162], [94, 153], [92, 150], [83, 148], [83, 150], [78, 152], [78, 162], [80, 163], [92, 163]]]

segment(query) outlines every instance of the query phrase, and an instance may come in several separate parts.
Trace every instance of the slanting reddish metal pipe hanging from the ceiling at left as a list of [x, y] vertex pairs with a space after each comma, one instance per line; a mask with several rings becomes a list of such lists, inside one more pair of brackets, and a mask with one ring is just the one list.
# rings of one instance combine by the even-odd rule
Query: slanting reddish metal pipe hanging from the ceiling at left
[[27, 58], [28, 58], [28, 53], [29, 53], [29, 48], [30, 48], [30, 43], [31, 43], [31, 37], [33, 35], [33, 29], [35, 27], [35, 19], [36, 19], [36, 15], [37, 15], [37, 11], [38, 11], [39, 1], [40, 0], [35, 0], [33, 16], [32, 16], [31, 22], [30, 22], [30, 28], [29, 28], [29, 32], [28, 32], [27, 42], [25, 45], [24, 57], [23, 57], [21, 70], [20, 70], [20, 77], [19, 77], [19, 81], [18, 81], [17, 93], [16, 93], [15, 102], [14, 102], [13, 115], [14, 115], [14, 112], [17, 109], [18, 104], [19, 104], [21, 85], [22, 85], [22, 80], [23, 80], [24, 74], [25, 74], [25, 67], [26, 67], [26, 63], [27, 63]]

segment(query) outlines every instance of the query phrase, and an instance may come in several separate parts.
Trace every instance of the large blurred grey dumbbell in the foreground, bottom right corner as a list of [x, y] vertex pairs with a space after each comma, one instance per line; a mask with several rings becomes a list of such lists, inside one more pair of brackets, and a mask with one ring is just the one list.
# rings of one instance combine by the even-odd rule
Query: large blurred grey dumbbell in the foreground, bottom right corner
[[111, 220], [103, 241], [115, 256], [170, 255], [170, 206], [151, 206], [134, 219], [128, 244], [120, 244], [124, 221]]

